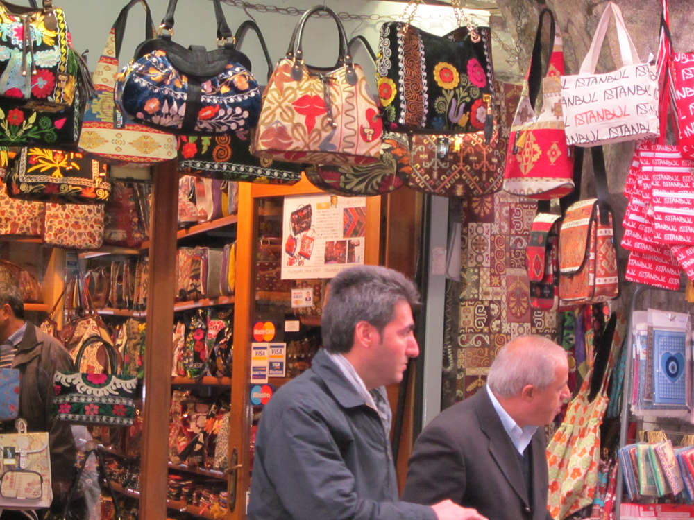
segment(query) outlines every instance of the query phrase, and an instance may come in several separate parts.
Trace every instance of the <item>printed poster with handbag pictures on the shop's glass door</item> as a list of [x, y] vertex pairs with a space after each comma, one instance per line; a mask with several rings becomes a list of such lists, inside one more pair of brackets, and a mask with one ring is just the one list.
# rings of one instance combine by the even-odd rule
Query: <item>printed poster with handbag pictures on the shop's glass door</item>
[[364, 264], [366, 197], [285, 197], [282, 279], [332, 278]]

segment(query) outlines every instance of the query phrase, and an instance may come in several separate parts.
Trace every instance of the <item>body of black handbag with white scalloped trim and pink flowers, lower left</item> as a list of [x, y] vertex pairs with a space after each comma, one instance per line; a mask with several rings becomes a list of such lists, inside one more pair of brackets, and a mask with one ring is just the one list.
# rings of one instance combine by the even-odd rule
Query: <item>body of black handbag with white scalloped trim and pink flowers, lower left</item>
[[53, 415], [60, 421], [132, 426], [137, 378], [109, 374], [56, 372]]

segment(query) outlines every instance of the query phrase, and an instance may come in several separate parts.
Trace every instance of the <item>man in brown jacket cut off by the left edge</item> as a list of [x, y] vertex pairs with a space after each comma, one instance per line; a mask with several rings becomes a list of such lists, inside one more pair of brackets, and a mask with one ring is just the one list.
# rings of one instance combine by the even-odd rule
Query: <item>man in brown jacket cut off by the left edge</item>
[[[72, 359], [56, 338], [24, 320], [22, 295], [4, 282], [0, 282], [0, 368], [19, 370], [18, 417], [26, 420], [28, 431], [49, 433], [53, 504], [58, 507], [76, 476], [77, 452], [69, 424], [53, 419], [53, 374], [73, 370]], [[14, 423], [0, 422], [0, 431], [14, 433]], [[0, 520], [35, 518], [33, 511], [0, 514]]]

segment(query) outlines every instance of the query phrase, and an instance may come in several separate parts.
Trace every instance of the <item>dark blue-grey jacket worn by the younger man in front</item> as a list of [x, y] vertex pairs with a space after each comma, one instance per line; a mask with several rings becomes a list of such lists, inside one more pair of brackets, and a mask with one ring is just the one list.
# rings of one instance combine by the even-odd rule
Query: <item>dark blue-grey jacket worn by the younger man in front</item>
[[381, 419], [323, 350], [265, 407], [249, 520], [436, 520], [398, 501]]

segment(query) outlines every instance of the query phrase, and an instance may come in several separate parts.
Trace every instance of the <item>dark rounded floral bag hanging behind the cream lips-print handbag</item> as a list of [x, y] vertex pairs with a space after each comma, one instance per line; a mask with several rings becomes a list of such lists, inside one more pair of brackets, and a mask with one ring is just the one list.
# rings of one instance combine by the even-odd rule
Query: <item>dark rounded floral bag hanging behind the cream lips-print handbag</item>
[[348, 197], [390, 193], [403, 186], [408, 175], [412, 175], [409, 139], [396, 132], [383, 132], [381, 155], [375, 164], [324, 164], [306, 169], [306, 176], [315, 187]]

